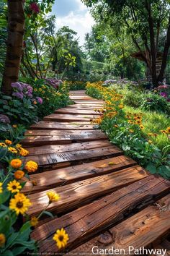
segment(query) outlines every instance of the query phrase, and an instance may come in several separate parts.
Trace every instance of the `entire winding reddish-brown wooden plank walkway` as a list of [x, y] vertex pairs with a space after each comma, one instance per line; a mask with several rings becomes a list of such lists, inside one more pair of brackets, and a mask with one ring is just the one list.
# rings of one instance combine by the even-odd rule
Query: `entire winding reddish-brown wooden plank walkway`
[[93, 128], [94, 108], [103, 101], [82, 90], [71, 98], [74, 105], [33, 124], [22, 141], [30, 151], [26, 161], [39, 165], [23, 189], [32, 202], [28, 214], [45, 208], [49, 190], [61, 195], [48, 208], [55, 218], [32, 231], [40, 252], [58, 252], [52, 238], [62, 227], [70, 238], [63, 252], [87, 255], [97, 246], [124, 248], [128, 255], [130, 245], [170, 250], [170, 182], [148, 174]]

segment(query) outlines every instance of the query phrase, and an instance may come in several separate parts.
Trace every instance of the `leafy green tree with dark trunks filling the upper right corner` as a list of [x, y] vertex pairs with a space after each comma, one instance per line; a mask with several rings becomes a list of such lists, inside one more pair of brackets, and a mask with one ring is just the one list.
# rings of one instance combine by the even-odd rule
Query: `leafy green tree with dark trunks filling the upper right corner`
[[[152, 75], [153, 85], [164, 79], [170, 46], [169, 0], [83, 0], [92, 7], [96, 20], [103, 20], [115, 29], [125, 25], [135, 47], [142, 54]], [[164, 40], [161, 70], [156, 75], [156, 57]]]

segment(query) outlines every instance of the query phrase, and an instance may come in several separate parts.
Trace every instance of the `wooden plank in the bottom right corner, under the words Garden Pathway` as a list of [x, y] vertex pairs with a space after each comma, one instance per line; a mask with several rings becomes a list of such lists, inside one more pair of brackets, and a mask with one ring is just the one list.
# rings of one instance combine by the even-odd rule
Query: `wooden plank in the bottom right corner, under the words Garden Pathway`
[[[156, 202], [156, 205], [148, 206], [148, 208], [128, 218], [126, 221], [122, 221], [117, 226], [91, 239], [86, 244], [82, 244], [81, 247], [74, 249], [71, 254], [76, 255], [77, 252], [84, 252], [88, 255], [91, 253], [92, 247], [104, 250], [110, 249], [110, 252], [112, 247], [119, 251], [123, 249], [123, 255], [134, 255], [134, 252], [130, 253], [130, 247], [135, 249], [140, 249], [141, 247], [164, 249], [164, 251], [169, 249], [170, 252], [170, 243], [168, 241], [164, 241], [161, 244], [157, 243], [158, 239], [162, 240], [166, 234], [170, 234], [169, 206], [170, 195], [167, 195]], [[158, 245], [153, 246], [156, 243]], [[147, 254], [148, 252], [140, 253], [140, 255]], [[115, 254], [113, 253], [113, 255]], [[148, 255], [158, 256], [160, 253], [150, 252]], [[167, 253], [166, 256], [168, 256]]]

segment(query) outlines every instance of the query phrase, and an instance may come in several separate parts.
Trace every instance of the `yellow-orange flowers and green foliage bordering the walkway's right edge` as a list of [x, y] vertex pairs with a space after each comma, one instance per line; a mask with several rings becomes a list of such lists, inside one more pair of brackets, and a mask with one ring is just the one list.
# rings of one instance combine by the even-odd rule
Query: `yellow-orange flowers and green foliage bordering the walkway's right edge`
[[[102, 87], [101, 83], [88, 83], [86, 90], [89, 95], [102, 98], [106, 103], [103, 110], [97, 110], [100, 117], [94, 122], [107, 133], [111, 142], [152, 174], [159, 173], [165, 178], [170, 178], [167, 153], [169, 147], [161, 153], [161, 150], [153, 145], [151, 136], [144, 135], [143, 114], [126, 113], [122, 104], [123, 96], [116, 90]], [[169, 135], [170, 127], [160, 132], [164, 132], [165, 136]]]

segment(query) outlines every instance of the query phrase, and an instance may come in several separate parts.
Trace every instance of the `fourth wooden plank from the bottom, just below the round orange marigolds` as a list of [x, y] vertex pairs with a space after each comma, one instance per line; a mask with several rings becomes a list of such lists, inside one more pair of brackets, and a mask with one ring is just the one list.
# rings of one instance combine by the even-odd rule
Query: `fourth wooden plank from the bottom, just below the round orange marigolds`
[[[109, 164], [113, 163], [113, 164]], [[117, 156], [115, 158], [108, 158], [101, 161], [95, 161], [92, 163], [84, 163], [77, 166], [71, 166], [67, 168], [61, 168], [54, 171], [45, 171], [42, 174], [30, 175], [30, 181], [27, 181], [22, 191], [24, 193], [40, 192], [43, 189], [51, 189], [61, 185], [78, 182], [83, 179], [89, 179], [94, 176], [100, 176], [103, 174], [109, 174], [114, 171], [119, 171], [123, 168], [135, 166], [136, 163], [131, 158], [124, 155]], [[135, 168], [138, 168], [135, 166]], [[57, 174], [57, 175], [56, 175]], [[32, 186], [32, 181], [36, 182], [36, 186]]]

